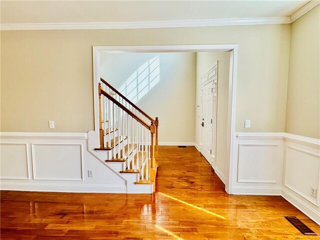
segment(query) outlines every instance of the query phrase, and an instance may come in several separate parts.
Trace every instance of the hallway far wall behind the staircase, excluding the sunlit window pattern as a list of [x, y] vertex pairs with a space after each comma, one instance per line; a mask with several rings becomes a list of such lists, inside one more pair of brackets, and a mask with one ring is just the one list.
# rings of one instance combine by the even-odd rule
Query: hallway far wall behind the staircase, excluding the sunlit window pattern
[[195, 52], [102, 53], [101, 76], [116, 88], [159, 55], [160, 81], [136, 105], [159, 117], [159, 142], [194, 142]]

